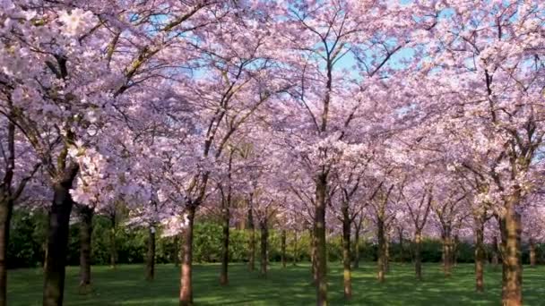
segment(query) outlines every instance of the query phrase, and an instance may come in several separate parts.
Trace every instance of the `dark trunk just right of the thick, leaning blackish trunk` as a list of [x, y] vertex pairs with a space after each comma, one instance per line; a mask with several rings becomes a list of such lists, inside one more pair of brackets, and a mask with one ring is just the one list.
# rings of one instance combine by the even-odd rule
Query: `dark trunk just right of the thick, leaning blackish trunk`
[[80, 292], [87, 293], [91, 286], [91, 235], [94, 209], [82, 206], [80, 210]]

